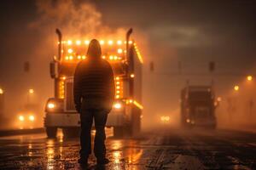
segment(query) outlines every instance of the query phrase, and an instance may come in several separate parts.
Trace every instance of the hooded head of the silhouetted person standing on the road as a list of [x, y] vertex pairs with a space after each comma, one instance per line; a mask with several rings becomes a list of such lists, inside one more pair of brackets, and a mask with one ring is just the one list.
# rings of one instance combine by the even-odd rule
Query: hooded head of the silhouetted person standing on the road
[[101, 58], [102, 56], [102, 48], [100, 43], [93, 39], [90, 41], [88, 50], [87, 50], [87, 57], [92, 59]]

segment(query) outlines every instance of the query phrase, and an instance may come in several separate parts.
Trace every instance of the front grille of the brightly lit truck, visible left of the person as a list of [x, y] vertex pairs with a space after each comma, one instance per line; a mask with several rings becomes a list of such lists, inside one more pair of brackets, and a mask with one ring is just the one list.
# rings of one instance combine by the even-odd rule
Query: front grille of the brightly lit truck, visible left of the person
[[73, 103], [73, 78], [69, 78], [65, 84], [65, 111], [75, 111]]

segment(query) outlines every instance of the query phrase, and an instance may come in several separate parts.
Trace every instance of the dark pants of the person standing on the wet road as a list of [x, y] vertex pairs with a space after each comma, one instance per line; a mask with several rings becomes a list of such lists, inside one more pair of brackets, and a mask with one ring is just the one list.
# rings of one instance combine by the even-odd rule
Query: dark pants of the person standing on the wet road
[[94, 154], [97, 159], [105, 158], [106, 147], [105, 147], [105, 125], [107, 122], [108, 113], [102, 110], [82, 110], [80, 113], [81, 120], [81, 134], [80, 134], [80, 157], [88, 158], [91, 153], [90, 144], [90, 130], [93, 119], [95, 121], [96, 136], [94, 140]]

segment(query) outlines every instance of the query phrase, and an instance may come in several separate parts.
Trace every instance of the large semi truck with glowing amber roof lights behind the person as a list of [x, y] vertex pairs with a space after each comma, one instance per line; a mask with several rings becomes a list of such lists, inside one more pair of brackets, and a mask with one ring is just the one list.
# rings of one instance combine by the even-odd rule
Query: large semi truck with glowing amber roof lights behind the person
[[[102, 46], [102, 59], [108, 60], [115, 79], [113, 109], [108, 114], [106, 127], [113, 127], [114, 136], [136, 135], [140, 132], [142, 105], [143, 57], [137, 43], [131, 40], [132, 29], [121, 39], [98, 39]], [[49, 138], [55, 138], [58, 128], [64, 136], [79, 133], [79, 113], [73, 103], [73, 75], [76, 66], [86, 58], [89, 38], [62, 39], [58, 36], [58, 55], [49, 65], [54, 79], [55, 95], [45, 105], [44, 127]]]

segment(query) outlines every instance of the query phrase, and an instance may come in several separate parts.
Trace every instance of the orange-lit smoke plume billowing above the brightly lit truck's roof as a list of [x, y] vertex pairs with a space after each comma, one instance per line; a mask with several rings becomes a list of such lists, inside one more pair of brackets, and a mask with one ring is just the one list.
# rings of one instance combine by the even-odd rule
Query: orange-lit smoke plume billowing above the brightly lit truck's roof
[[36, 6], [40, 17], [29, 25], [31, 28], [46, 31], [60, 28], [65, 37], [125, 36], [125, 30], [122, 28], [111, 29], [103, 26], [102, 14], [93, 3], [38, 0]]

